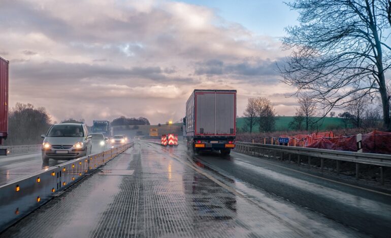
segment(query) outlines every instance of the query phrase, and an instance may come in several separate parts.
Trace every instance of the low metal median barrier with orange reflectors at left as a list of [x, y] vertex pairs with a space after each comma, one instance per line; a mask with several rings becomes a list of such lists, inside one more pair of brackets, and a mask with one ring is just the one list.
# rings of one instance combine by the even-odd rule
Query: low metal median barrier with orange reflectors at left
[[57, 191], [105, 165], [133, 144], [76, 158], [0, 186], [0, 232], [52, 199]]

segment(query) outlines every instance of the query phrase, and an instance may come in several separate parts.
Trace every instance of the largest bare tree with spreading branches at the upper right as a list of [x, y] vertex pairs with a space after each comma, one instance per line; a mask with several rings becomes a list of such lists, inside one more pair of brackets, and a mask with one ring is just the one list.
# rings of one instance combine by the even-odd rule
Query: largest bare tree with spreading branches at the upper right
[[[391, 68], [387, 0], [296, 0], [300, 26], [282, 39], [291, 57], [279, 69], [284, 82], [309, 91], [326, 114], [355, 100], [354, 92], [381, 98], [383, 125], [391, 129], [385, 71]], [[388, 15], [387, 15], [388, 14]]]

